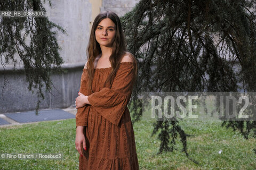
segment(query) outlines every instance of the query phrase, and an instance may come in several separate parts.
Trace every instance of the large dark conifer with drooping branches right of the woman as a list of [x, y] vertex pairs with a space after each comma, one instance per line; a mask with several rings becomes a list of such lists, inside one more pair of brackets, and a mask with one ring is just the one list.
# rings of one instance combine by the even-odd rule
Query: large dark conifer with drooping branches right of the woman
[[[143, 91], [255, 91], [255, 7], [246, 0], [141, 0], [126, 13], [127, 47], [139, 67], [131, 97], [134, 120], [142, 114]], [[225, 124], [256, 137], [255, 121]], [[153, 134], [159, 130], [159, 152], [173, 150], [179, 135], [188, 156], [188, 134], [177, 119], [157, 121]]]

